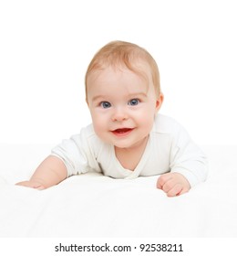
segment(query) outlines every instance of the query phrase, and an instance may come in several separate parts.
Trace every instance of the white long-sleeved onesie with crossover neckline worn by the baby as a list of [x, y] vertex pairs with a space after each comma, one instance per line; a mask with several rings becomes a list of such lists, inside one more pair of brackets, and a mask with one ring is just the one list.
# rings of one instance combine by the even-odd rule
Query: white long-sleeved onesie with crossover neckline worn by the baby
[[204, 181], [208, 172], [206, 156], [189, 134], [179, 123], [161, 114], [155, 118], [148, 144], [134, 171], [120, 165], [114, 146], [101, 141], [92, 124], [57, 145], [52, 155], [67, 166], [67, 176], [96, 171], [114, 178], [135, 178], [177, 172], [193, 187]]

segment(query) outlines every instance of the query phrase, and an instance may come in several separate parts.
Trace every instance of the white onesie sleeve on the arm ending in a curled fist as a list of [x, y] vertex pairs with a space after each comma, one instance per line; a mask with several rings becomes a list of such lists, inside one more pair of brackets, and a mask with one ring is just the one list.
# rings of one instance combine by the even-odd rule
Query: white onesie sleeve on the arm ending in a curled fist
[[170, 172], [185, 176], [191, 187], [194, 187], [207, 178], [207, 157], [180, 124], [177, 123], [173, 128], [175, 132], [171, 139]]

